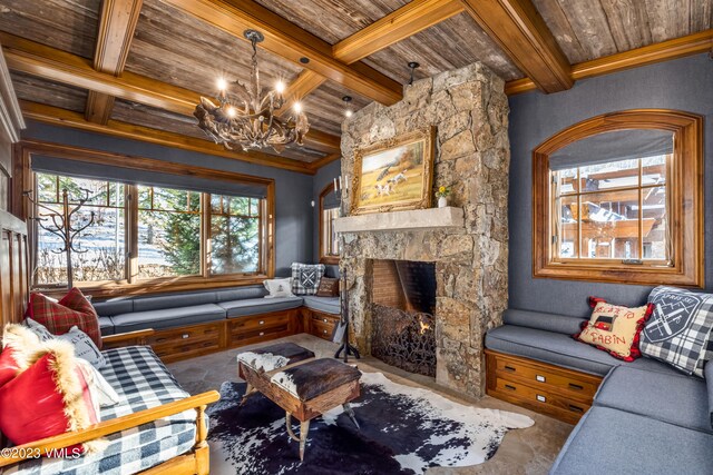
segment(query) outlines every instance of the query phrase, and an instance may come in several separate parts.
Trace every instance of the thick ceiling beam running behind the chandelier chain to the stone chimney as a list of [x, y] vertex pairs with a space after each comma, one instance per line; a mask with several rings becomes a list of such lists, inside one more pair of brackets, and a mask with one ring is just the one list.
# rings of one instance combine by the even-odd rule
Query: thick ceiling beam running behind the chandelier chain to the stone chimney
[[[219, 28], [241, 40], [243, 31], [256, 29], [265, 36], [261, 47], [289, 61], [310, 69], [344, 87], [384, 105], [403, 97], [393, 79], [364, 63], [349, 66], [332, 56], [332, 46], [306, 30], [252, 1], [166, 0], [184, 12]], [[307, 58], [303, 63], [301, 58]]]

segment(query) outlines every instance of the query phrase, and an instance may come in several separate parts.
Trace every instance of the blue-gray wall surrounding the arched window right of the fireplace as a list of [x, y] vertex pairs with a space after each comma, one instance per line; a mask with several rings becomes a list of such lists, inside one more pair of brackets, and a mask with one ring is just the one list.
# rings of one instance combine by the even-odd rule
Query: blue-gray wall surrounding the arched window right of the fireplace
[[651, 287], [533, 278], [533, 149], [589, 117], [636, 108], [705, 116], [705, 286], [713, 290], [713, 61], [700, 55], [578, 81], [572, 90], [549, 96], [510, 97], [511, 308], [585, 316], [590, 295], [619, 305], [645, 301]]

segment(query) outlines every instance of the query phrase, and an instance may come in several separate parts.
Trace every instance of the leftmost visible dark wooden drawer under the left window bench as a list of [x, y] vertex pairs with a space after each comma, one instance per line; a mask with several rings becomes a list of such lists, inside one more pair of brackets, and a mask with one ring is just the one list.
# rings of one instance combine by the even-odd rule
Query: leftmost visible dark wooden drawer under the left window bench
[[158, 330], [147, 338], [147, 343], [164, 362], [192, 358], [219, 350], [223, 327], [221, 321]]

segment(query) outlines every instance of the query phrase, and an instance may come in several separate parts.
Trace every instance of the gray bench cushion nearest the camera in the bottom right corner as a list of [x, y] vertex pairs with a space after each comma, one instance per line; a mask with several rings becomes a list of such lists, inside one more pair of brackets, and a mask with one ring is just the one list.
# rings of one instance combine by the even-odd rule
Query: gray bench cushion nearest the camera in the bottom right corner
[[710, 475], [713, 435], [608, 407], [572, 432], [550, 475]]

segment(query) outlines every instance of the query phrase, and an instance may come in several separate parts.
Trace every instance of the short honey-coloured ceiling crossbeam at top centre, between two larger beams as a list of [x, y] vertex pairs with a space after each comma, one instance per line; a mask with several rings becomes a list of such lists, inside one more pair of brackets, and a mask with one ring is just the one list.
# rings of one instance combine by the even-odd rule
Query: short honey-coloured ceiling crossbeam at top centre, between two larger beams
[[348, 65], [404, 40], [463, 11], [459, 0], [413, 0], [332, 47]]

